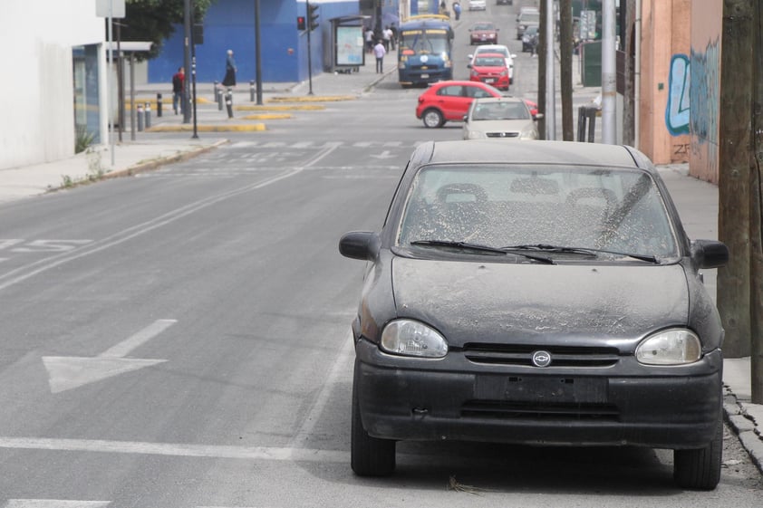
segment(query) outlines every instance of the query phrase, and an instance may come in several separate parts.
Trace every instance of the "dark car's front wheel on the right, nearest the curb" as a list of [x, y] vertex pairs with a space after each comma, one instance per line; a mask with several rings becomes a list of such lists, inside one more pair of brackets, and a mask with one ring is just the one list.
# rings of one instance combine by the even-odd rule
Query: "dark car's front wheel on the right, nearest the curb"
[[723, 417], [718, 418], [715, 436], [708, 446], [673, 452], [673, 480], [685, 489], [714, 489], [720, 482], [723, 455]]

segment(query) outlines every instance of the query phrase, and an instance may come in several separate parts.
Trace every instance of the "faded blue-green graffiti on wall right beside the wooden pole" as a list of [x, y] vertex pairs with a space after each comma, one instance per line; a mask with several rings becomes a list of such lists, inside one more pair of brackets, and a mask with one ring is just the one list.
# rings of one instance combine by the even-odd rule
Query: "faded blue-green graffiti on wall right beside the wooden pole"
[[[709, 42], [704, 52], [691, 50], [692, 156], [704, 160], [709, 177], [718, 174], [720, 114], [719, 40]], [[710, 178], [712, 179], [712, 178]]]

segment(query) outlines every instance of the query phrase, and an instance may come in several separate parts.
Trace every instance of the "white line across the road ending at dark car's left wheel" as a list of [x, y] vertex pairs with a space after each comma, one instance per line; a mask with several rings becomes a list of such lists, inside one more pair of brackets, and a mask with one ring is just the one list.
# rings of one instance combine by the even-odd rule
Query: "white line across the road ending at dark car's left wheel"
[[275, 446], [211, 446], [187, 443], [145, 443], [101, 439], [48, 439], [43, 437], [0, 437], [0, 448], [60, 452], [169, 455], [179, 457], [275, 460], [290, 462], [350, 462], [349, 452], [285, 448]]

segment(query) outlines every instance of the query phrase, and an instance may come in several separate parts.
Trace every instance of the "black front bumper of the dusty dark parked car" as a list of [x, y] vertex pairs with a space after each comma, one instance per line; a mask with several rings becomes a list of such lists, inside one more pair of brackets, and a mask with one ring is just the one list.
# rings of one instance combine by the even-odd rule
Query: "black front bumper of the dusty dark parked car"
[[700, 448], [720, 415], [720, 351], [667, 369], [633, 357], [607, 369], [485, 368], [458, 353], [393, 357], [366, 340], [356, 355], [363, 427], [386, 439]]

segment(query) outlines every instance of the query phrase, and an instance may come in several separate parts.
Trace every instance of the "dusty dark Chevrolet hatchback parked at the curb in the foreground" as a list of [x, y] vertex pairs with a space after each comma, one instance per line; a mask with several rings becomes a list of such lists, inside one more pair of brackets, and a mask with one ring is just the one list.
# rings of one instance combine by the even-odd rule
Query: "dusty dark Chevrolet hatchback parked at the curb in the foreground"
[[366, 260], [353, 321], [352, 466], [391, 474], [398, 440], [648, 446], [674, 479], [720, 480], [723, 330], [652, 163], [627, 147], [429, 142]]

